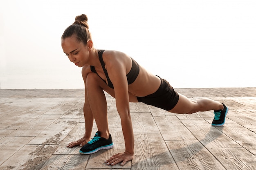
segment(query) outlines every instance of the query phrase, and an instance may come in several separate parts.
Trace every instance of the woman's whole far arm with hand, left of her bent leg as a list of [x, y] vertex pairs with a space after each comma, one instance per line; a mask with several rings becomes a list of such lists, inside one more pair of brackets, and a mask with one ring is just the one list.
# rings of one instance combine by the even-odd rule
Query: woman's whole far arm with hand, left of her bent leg
[[85, 134], [81, 139], [79, 139], [77, 141], [73, 141], [70, 144], [68, 144], [67, 147], [70, 147], [70, 148], [77, 146], [77, 145], [80, 145], [80, 147], [82, 147], [83, 145], [87, 144], [88, 141], [90, 141], [91, 134], [92, 134], [92, 126], [93, 126], [94, 117], [92, 115], [92, 110], [90, 108], [90, 104], [89, 104], [87, 92], [86, 92], [86, 77], [87, 77], [88, 73], [90, 73], [90, 66], [84, 66], [82, 69], [82, 76], [83, 76], [83, 81], [85, 84], [85, 103], [83, 105], [83, 115], [84, 115], [84, 119], [85, 119]]

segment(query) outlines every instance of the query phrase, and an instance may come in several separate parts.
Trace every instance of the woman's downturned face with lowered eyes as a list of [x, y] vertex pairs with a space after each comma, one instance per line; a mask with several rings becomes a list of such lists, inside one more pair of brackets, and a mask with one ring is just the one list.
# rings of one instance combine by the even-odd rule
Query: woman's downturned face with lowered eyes
[[72, 36], [62, 40], [61, 46], [68, 59], [76, 66], [82, 67], [86, 64], [89, 58], [88, 45], [84, 45], [83, 42], [78, 42], [76, 38]]

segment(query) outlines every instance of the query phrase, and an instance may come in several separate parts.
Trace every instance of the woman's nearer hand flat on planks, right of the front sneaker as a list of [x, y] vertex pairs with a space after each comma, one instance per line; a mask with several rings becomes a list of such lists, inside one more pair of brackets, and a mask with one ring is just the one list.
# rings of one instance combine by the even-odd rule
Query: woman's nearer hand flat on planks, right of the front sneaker
[[105, 163], [107, 163], [107, 165], [115, 165], [122, 162], [121, 165], [123, 166], [127, 161], [130, 161], [132, 159], [133, 154], [130, 154], [129, 152], [123, 152], [113, 155], [108, 160], [106, 160]]

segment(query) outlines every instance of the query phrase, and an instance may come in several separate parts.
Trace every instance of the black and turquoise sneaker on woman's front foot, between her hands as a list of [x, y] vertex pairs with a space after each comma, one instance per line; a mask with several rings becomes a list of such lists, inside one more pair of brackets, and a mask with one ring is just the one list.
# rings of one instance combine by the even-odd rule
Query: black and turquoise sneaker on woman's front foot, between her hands
[[101, 132], [96, 132], [95, 136], [87, 144], [85, 144], [80, 150], [79, 153], [86, 155], [98, 152], [102, 149], [113, 148], [114, 144], [112, 142], [112, 137], [109, 134], [109, 138], [105, 139], [101, 137]]

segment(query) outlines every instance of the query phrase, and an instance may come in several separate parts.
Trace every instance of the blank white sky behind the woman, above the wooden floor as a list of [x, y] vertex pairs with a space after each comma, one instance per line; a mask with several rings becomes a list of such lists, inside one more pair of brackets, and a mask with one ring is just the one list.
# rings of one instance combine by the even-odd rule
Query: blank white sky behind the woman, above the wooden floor
[[1, 0], [0, 88], [83, 88], [61, 49], [88, 15], [97, 49], [123, 51], [174, 88], [256, 87], [255, 0]]

